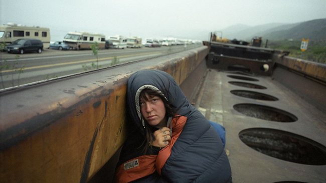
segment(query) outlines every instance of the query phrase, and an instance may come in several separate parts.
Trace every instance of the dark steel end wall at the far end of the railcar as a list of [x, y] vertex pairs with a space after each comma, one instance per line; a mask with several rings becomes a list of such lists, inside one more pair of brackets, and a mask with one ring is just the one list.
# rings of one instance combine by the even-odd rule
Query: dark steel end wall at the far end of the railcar
[[274, 55], [288, 54], [285, 51], [238, 44], [221, 42], [204, 42], [204, 44], [210, 48], [208, 67], [249, 74], [271, 75], [276, 57]]

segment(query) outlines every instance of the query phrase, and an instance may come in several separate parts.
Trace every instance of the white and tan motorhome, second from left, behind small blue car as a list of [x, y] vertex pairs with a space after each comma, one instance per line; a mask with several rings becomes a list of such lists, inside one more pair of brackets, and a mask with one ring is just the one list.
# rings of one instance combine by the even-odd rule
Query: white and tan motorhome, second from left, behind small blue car
[[68, 32], [63, 41], [77, 50], [90, 49], [95, 42], [97, 42], [100, 49], [105, 48], [105, 35], [99, 33]]

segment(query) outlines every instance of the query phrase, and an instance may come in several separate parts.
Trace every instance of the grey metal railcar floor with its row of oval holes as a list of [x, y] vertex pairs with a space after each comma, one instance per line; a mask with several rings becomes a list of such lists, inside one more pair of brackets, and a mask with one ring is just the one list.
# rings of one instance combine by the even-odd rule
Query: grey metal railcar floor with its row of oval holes
[[203, 86], [196, 106], [226, 128], [234, 182], [326, 181], [324, 112], [270, 76], [209, 69]]

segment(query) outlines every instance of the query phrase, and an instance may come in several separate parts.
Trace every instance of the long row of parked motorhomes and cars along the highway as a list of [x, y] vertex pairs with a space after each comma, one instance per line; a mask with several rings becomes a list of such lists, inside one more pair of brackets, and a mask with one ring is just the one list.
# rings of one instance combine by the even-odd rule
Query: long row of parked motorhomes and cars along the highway
[[180, 44], [191, 44], [199, 41], [190, 39], [146, 39], [142, 44], [142, 38], [138, 36], [125, 37], [122, 35], [110, 36], [105, 39], [104, 34], [89, 32], [68, 32], [62, 41], [50, 43], [50, 29], [39, 26], [22, 26], [16, 23], [0, 25], [0, 50], [24, 54], [37, 51], [41, 53], [45, 48], [51, 49], [90, 49], [92, 44], [97, 44], [100, 49], [126, 47], [140, 48], [159, 47]]

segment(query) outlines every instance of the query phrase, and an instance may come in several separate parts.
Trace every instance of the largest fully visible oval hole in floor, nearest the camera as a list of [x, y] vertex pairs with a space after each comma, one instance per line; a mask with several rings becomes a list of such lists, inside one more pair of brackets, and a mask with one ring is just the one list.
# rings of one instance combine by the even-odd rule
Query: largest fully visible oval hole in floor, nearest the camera
[[263, 154], [300, 164], [325, 165], [326, 147], [304, 136], [271, 128], [248, 128], [239, 137]]

